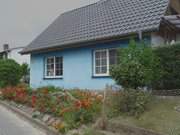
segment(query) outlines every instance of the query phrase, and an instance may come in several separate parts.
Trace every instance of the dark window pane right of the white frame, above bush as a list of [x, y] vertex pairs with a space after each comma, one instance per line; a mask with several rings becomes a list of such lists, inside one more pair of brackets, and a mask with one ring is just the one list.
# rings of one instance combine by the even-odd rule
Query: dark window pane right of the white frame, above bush
[[116, 49], [111, 49], [109, 50], [109, 64], [110, 65], [115, 65], [117, 64], [117, 50]]

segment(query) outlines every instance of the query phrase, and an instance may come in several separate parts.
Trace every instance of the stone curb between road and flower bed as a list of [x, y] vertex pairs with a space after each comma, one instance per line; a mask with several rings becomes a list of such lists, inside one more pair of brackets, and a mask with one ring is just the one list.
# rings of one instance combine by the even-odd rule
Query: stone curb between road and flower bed
[[0, 105], [5, 107], [6, 109], [10, 110], [11, 112], [14, 112], [16, 115], [18, 115], [20, 118], [23, 118], [24, 120], [27, 120], [30, 122], [35, 128], [38, 128], [46, 133], [46, 135], [61, 135], [54, 129], [48, 127], [43, 122], [37, 119], [33, 119], [30, 115], [26, 114], [24, 111], [9, 105], [8, 103], [0, 100]]

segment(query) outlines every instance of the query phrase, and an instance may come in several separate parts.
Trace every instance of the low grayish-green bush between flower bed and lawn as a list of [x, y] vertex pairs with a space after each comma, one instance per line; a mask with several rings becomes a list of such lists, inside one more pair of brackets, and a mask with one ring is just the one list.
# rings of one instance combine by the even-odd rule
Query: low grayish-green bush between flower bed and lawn
[[133, 89], [124, 90], [119, 97], [120, 112], [138, 117], [146, 110], [150, 94]]

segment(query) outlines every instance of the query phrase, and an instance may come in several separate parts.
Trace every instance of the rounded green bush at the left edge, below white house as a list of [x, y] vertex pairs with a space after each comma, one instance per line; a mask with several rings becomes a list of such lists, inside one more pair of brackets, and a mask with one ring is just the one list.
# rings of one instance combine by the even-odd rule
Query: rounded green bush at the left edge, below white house
[[21, 66], [14, 60], [0, 60], [0, 87], [17, 85], [22, 77]]

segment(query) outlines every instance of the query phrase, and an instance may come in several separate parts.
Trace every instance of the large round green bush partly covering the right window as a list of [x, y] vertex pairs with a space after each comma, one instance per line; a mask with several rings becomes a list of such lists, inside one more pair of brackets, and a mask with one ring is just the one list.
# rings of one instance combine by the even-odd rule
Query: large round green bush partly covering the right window
[[129, 47], [119, 50], [118, 64], [111, 68], [111, 76], [124, 88], [150, 86], [161, 77], [159, 58], [151, 47], [130, 41]]

